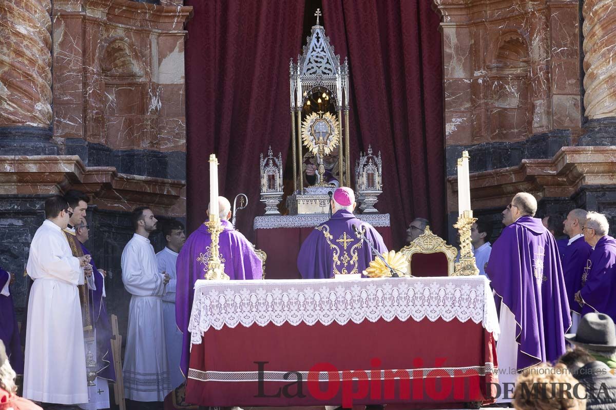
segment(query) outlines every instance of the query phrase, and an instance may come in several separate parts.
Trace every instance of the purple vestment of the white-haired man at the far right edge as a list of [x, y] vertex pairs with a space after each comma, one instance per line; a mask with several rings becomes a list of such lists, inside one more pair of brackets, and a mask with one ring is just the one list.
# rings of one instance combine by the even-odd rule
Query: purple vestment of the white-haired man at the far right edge
[[[599, 312], [616, 321], [616, 240], [605, 235], [590, 254], [588, 275], [582, 277], [582, 315]], [[579, 305], [578, 305], [579, 306]]]

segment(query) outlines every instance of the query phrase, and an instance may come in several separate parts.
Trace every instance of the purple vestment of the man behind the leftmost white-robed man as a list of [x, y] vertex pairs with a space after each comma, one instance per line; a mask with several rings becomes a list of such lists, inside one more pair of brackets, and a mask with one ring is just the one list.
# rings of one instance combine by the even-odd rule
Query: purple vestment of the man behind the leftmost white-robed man
[[[83, 243], [79, 241], [78, 243], [81, 245], [84, 255], [92, 256], [86, 246], [83, 246]], [[99, 274], [99, 270], [94, 264], [94, 258], [92, 258], [90, 264], [94, 271], [94, 286], [96, 287], [96, 290], [89, 289], [90, 297], [88, 298], [90, 318], [96, 329], [96, 373], [98, 377], [115, 382], [115, 367], [113, 366], [113, 355], [111, 353], [111, 323], [107, 316], [105, 298], [103, 298], [105, 279], [103, 275]]]

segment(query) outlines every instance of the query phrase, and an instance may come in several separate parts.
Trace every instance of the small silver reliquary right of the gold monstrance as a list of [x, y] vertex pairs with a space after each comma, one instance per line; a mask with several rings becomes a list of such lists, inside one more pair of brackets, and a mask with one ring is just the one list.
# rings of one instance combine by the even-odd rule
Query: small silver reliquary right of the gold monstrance
[[381, 179], [381, 151], [378, 156], [372, 154], [372, 147], [368, 146], [368, 153], [361, 153], [355, 165], [355, 191], [357, 192], [359, 208], [362, 213], [378, 213], [375, 205], [377, 197], [383, 192]]

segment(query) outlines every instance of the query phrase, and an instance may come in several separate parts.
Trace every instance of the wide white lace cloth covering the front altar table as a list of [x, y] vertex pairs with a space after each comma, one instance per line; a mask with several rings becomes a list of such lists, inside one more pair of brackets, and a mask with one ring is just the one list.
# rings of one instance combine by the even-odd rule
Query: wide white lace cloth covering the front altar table
[[394, 318], [472, 320], [495, 339], [500, 333], [492, 290], [483, 276], [198, 280], [188, 331], [192, 344], [201, 344], [203, 333], [223, 326], [344, 325]]

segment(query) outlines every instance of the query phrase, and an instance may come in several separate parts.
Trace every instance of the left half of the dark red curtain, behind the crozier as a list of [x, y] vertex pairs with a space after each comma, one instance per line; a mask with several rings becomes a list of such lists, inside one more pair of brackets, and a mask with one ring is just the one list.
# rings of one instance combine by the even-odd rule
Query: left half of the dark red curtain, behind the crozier
[[286, 152], [291, 140], [289, 60], [301, 52], [304, 2], [187, 0], [188, 231], [206, 218], [209, 154], [219, 160], [219, 192], [240, 192], [249, 206], [237, 227], [254, 239], [259, 153]]

